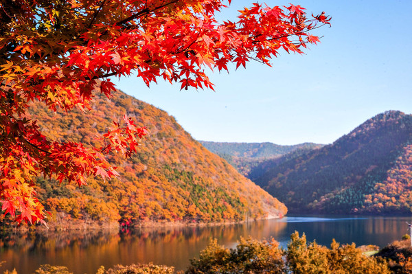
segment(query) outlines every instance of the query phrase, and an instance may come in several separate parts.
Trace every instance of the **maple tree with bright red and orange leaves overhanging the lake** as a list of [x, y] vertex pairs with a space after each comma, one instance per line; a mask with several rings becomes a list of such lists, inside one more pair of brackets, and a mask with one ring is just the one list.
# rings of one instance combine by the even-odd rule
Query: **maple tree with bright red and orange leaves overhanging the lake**
[[[230, 1], [229, 1], [230, 4]], [[220, 0], [0, 1], [0, 202], [17, 222], [45, 222], [33, 179], [56, 176], [85, 185], [116, 176], [105, 155], [128, 157], [146, 135], [128, 117], [100, 136], [100, 146], [50, 140], [27, 118], [30, 101], [50, 111], [90, 109], [95, 93], [115, 91], [110, 76], [130, 73], [146, 84], [162, 78], [209, 88], [205, 68], [227, 70], [249, 60], [269, 64], [280, 49], [301, 53], [329, 24], [324, 13], [254, 3], [237, 22], [216, 21]]]

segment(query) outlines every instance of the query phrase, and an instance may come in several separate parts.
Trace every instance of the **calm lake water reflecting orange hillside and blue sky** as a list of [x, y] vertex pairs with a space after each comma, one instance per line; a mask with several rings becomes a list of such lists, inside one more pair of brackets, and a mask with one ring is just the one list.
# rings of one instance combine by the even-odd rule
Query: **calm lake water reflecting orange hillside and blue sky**
[[137, 262], [165, 264], [185, 269], [211, 238], [226, 247], [235, 247], [240, 237], [275, 238], [286, 247], [295, 230], [309, 241], [329, 246], [337, 242], [384, 247], [408, 233], [409, 217], [286, 217], [242, 225], [137, 229], [130, 233], [47, 233], [3, 236], [0, 239], [0, 273], [16, 268], [19, 274], [32, 273], [41, 264], [65, 265], [75, 274], [94, 274], [99, 266]]

